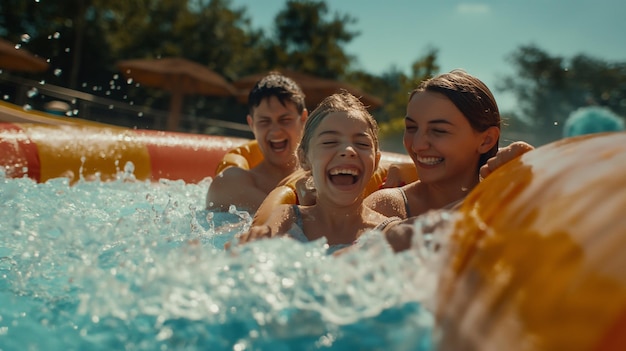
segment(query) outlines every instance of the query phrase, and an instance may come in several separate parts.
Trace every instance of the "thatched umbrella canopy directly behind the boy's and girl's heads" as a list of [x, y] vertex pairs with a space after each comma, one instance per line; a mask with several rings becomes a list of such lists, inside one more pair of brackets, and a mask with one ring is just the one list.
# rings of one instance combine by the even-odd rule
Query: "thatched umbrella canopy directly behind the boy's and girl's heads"
[[[314, 75], [288, 69], [275, 69], [272, 71], [279, 72], [282, 75], [287, 76], [293, 79], [296, 83], [298, 83], [298, 85], [300, 85], [300, 88], [302, 88], [304, 95], [306, 95], [306, 105], [310, 109], [315, 108], [328, 95], [338, 93], [342, 90], [348, 91], [351, 94], [359, 97], [363, 104], [365, 106], [368, 106], [370, 109], [375, 109], [383, 105], [383, 101], [378, 97], [366, 94], [347, 83], [332, 79], [320, 78]], [[250, 89], [252, 89], [256, 82], [258, 82], [268, 73], [269, 72], [263, 72], [249, 75], [233, 82], [233, 85], [236, 88], [240, 89], [240, 92], [237, 96], [238, 101], [241, 103], [247, 103]]]

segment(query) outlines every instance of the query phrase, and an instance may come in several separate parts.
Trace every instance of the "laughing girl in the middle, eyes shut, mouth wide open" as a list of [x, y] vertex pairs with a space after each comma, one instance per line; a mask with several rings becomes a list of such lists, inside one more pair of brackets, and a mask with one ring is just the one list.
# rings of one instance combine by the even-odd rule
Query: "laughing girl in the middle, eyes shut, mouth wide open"
[[386, 216], [363, 205], [380, 151], [378, 125], [359, 99], [349, 93], [324, 99], [306, 121], [298, 158], [310, 173], [315, 204], [280, 205], [240, 243], [277, 235], [303, 242], [326, 237], [332, 252], [385, 223]]

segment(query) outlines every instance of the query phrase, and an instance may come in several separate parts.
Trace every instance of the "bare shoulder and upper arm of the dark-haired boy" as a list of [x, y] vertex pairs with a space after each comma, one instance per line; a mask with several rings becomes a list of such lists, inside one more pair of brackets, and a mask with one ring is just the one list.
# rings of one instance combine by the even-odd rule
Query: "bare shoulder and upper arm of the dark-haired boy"
[[252, 174], [238, 167], [229, 167], [213, 178], [207, 192], [207, 210], [237, 209], [255, 212], [267, 194], [259, 189]]

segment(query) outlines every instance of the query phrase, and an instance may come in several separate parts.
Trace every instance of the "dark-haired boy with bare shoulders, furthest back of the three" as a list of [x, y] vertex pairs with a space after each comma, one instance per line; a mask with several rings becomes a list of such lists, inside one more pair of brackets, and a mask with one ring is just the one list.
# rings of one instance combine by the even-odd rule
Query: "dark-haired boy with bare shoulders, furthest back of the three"
[[256, 212], [267, 194], [298, 169], [296, 148], [308, 112], [302, 89], [277, 72], [262, 78], [248, 95], [247, 121], [263, 160], [245, 170], [229, 167], [215, 176], [207, 193], [208, 210]]

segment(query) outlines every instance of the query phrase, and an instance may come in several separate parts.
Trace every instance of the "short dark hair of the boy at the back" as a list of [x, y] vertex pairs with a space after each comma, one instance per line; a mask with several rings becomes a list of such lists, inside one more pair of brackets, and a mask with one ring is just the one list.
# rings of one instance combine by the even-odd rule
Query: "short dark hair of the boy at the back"
[[296, 109], [300, 114], [306, 109], [304, 93], [300, 86], [280, 72], [271, 71], [256, 82], [250, 90], [250, 94], [248, 94], [248, 111], [250, 115], [254, 116], [254, 109], [263, 100], [272, 96], [275, 96], [283, 106], [286, 106], [287, 102], [292, 102], [296, 105]]

